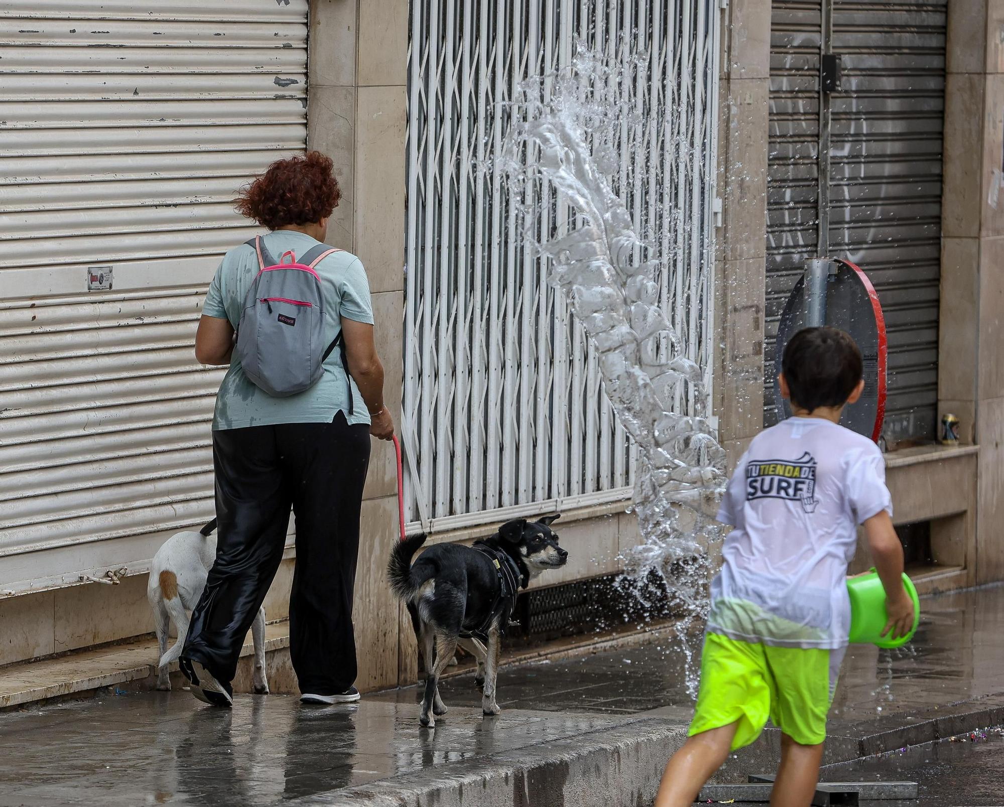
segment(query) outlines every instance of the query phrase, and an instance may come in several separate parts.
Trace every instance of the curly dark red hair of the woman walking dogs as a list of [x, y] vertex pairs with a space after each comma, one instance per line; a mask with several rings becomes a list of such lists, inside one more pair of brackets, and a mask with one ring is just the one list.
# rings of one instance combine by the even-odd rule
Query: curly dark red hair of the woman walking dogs
[[331, 158], [320, 152], [277, 160], [240, 190], [234, 209], [269, 230], [316, 224], [331, 215], [341, 198], [331, 167]]

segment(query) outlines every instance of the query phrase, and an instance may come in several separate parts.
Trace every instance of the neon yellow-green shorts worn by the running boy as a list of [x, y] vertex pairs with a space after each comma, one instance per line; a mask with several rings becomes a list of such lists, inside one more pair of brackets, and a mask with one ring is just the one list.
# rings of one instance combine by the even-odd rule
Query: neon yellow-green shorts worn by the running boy
[[843, 653], [773, 647], [709, 633], [689, 736], [738, 722], [735, 751], [754, 742], [769, 718], [800, 745], [822, 743]]

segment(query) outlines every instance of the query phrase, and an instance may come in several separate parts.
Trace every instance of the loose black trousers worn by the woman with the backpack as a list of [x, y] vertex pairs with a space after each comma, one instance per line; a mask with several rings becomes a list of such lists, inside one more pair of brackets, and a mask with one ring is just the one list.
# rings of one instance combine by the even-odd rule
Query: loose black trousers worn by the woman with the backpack
[[282, 560], [289, 509], [296, 570], [289, 641], [300, 692], [334, 695], [355, 681], [352, 589], [369, 428], [283, 424], [213, 433], [216, 562], [182, 655], [232, 681], [244, 638]]

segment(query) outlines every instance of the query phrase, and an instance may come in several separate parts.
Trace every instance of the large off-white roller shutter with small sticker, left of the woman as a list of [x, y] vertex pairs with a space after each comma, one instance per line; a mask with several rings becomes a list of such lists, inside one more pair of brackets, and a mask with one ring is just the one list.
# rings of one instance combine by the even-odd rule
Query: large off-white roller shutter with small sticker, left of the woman
[[222, 371], [195, 327], [255, 232], [235, 192], [304, 148], [306, 22], [306, 0], [0, 7], [0, 594], [143, 571], [212, 517]]

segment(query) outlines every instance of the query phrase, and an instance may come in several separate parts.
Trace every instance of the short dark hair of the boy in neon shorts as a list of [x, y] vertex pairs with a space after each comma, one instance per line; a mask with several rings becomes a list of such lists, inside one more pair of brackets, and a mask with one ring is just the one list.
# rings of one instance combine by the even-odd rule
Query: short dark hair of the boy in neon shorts
[[842, 330], [802, 328], [784, 346], [781, 371], [793, 407], [842, 407], [861, 379], [861, 351]]

